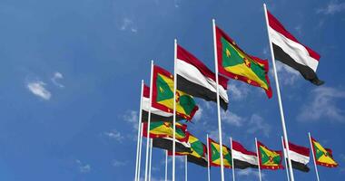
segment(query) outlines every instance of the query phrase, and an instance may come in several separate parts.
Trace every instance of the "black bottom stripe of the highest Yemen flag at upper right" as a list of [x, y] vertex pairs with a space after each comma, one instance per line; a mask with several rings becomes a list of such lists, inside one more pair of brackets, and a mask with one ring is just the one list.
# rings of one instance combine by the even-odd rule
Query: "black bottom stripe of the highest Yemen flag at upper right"
[[288, 53], [284, 52], [279, 45], [276, 45], [274, 43], [272, 43], [272, 45], [275, 59], [285, 63], [286, 65], [289, 65], [296, 71], [300, 71], [305, 80], [311, 81], [311, 83], [315, 85], [322, 85], [324, 83], [324, 81], [319, 80], [318, 75], [311, 69], [311, 67], [302, 65], [293, 60], [291, 56]]

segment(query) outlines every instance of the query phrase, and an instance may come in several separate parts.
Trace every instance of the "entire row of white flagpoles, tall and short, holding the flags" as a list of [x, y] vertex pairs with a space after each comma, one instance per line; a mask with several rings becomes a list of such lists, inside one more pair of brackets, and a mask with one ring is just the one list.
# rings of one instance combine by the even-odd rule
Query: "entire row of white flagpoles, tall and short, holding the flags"
[[[282, 126], [282, 132], [283, 132], [283, 137], [281, 138], [281, 142], [289, 143], [288, 139], [288, 133], [286, 129], [286, 124], [285, 124], [285, 118], [284, 118], [284, 111], [283, 111], [283, 106], [282, 106], [282, 100], [281, 100], [281, 90], [280, 90], [280, 84], [278, 80], [278, 74], [276, 70], [276, 64], [275, 64], [275, 58], [274, 58], [274, 52], [272, 48], [272, 43], [271, 43], [271, 35], [269, 33], [269, 22], [268, 22], [268, 14], [267, 14], [267, 8], [266, 5], [263, 5], [264, 8], [264, 14], [265, 14], [265, 20], [266, 20], [266, 26], [267, 26], [267, 33], [268, 33], [268, 38], [269, 38], [269, 43], [270, 43], [270, 50], [271, 50], [271, 62], [273, 64], [273, 72], [274, 72], [274, 80], [276, 84], [276, 90], [277, 90], [277, 97], [278, 97], [278, 103], [279, 103], [279, 108], [280, 108], [280, 114], [281, 114], [281, 126]], [[212, 19], [212, 31], [213, 31], [213, 48], [214, 48], [214, 64], [215, 64], [215, 74], [216, 74], [216, 95], [217, 95], [217, 118], [218, 118], [218, 130], [219, 130], [219, 143], [221, 145], [220, 147], [220, 154], [222, 156], [222, 119], [221, 119], [221, 109], [220, 109], [220, 97], [219, 97], [219, 77], [218, 77], [218, 57], [217, 57], [217, 44], [216, 44], [216, 25], [215, 25], [215, 20]], [[175, 181], [175, 125], [176, 125], [176, 85], [177, 85], [177, 79], [176, 79], [176, 60], [177, 60], [177, 40], [174, 40], [174, 73], [173, 73], [173, 167], [172, 167], [172, 176], [173, 176], [173, 181]], [[147, 130], [150, 130], [150, 123], [151, 123], [151, 105], [152, 105], [152, 96], [153, 96], [153, 61], [151, 62], [151, 77], [150, 77], [150, 101], [149, 101], [149, 109], [148, 109], [148, 128]], [[135, 162], [135, 179], [139, 180], [140, 179], [140, 167], [141, 167], [141, 156], [142, 156], [142, 140], [143, 137], [142, 132], [143, 132], [143, 126], [142, 126], [142, 106], [143, 106], [143, 81], [142, 81], [142, 95], [141, 95], [141, 103], [140, 103], [140, 116], [139, 116], [139, 123], [138, 123], [138, 141], [137, 141], [137, 152], [136, 152], [136, 162]], [[145, 181], [150, 181], [151, 178], [151, 158], [152, 158], [152, 142], [150, 142], [150, 136], [149, 132], [147, 131], [147, 139], [146, 139], [146, 159], [145, 159], [145, 172], [144, 172], [144, 180]], [[309, 135], [310, 136], [310, 135]], [[311, 139], [311, 136], [310, 136]], [[207, 135], [207, 142], [208, 142], [208, 135]], [[151, 143], [151, 145], [150, 145]], [[255, 143], [257, 143], [257, 139], [255, 138]], [[209, 145], [209, 143], [207, 143]], [[287, 170], [287, 176], [288, 180], [294, 181], [294, 176], [293, 176], [293, 171], [292, 171], [292, 165], [291, 165], [291, 157], [289, 154], [289, 144], [286, 144], [286, 150], [287, 154], [284, 153], [284, 157], [287, 157], [287, 162], [286, 159], [285, 161], [285, 166], [288, 167]], [[231, 145], [232, 147], [232, 145]], [[150, 153], [150, 155], [149, 155]], [[167, 157], [168, 153], [166, 151], [166, 156], [165, 156], [165, 180], [167, 180]], [[209, 156], [209, 150], [208, 150], [208, 156]], [[312, 153], [314, 157], [314, 153]], [[259, 156], [258, 156], [259, 157]], [[207, 158], [209, 159], [209, 157]], [[223, 167], [223, 157], [220, 157], [221, 159], [221, 180], [224, 181], [224, 167]], [[185, 162], [187, 162], [187, 157], [185, 157]], [[233, 160], [232, 160], [233, 162]], [[232, 163], [233, 164], [233, 163]], [[315, 164], [314, 160], [314, 165], [315, 165], [315, 171], [317, 175], [318, 181], [319, 175], [317, 171], [317, 167]], [[260, 169], [260, 163], [258, 159], [258, 166], [259, 166], [259, 177], [261, 180], [261, 169]], [[148, 176], [149, 175], [149, 176]], [[234, 176], [234, 168], [232, 168], [232, 178], [233, 180], [235, 179]], [[185, 180], [187, 180], [187, 164], [185, 164]], [[210, 181], [210, 162], [208, 160], [208, 180]]]

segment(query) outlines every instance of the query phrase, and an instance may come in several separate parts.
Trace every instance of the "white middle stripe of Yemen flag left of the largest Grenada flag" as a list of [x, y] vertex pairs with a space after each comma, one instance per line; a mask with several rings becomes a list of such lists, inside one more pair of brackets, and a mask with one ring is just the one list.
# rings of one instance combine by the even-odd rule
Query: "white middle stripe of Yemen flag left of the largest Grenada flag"
[[[211, 90], [214, 93], [217, 92], [217, 83], [213, 81], [211, 78], [203, 75], [201, 71], [199, 71], [196, 67], [192, 66], [192, 64], [188, 62], [184, 62], [182, 60], [177, 59], [176, 73], [188, 81], [192, 81], [193, 83], [201, 85], [202, 87]], [[219, 86], [219, 93], [222, 100], [228, 103], [228, 94], [222, 86]]]

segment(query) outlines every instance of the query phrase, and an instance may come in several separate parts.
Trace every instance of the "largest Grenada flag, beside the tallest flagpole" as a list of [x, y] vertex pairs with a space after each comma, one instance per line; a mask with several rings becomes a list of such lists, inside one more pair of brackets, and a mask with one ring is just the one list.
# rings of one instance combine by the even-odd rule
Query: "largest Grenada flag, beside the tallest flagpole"
[[271, 98], [269, 62], [242, 51], [232, 38], [218, 27], [216, 27], [216, 43], [219, 71], [232, 79], [261, 87]]

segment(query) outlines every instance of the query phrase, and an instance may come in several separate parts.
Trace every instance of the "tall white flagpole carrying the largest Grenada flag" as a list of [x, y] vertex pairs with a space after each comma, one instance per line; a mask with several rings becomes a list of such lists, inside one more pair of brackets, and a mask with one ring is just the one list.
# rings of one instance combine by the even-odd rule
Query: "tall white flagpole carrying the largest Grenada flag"
[[218, 79], [218, 57], [217, 57], [217, 41], [216, 41], [216, 29], [215, 29], [215, 20], [212, 19], [213, 27], [213, 48], [214, 48], [214, 64], [215, 64], [215, 75], [216, 75], [216, 84], [217, 84], [217, 112], [218, 112], [218, 132], [219, 132], [219, 144], [220, 154], [221, 154], [221, 176], [222, 181], [224, 181], [224, 163], [222, 156], [222, 120], [221, 120], [221, 106], [219, 100], [219, 79]]

